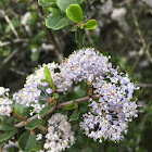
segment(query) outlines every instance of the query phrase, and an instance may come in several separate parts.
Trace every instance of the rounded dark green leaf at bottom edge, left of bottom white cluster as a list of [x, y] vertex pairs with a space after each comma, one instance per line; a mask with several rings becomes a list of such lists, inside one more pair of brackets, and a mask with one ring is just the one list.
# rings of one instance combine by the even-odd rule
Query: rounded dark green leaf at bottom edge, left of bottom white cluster
[[18, 139], [18, 148], [24, 152], [34, 150], [37, 145], [36, 138], [36, 135], [30, 135], [30, 130], [25, 131]]

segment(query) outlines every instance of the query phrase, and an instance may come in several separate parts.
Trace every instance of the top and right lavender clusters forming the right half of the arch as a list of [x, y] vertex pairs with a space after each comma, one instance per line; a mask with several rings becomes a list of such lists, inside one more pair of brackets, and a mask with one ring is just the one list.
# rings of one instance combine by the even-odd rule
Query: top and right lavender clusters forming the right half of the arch
[[128, 75], [113, 68], [109, 58], [93, 49], [75, 51], [62, 65], [64, 76], [74, 81], [91, 83], [97, 99], [90, 99], [90, 112], [80, 123], [85, 134], [93, 140], [102, 138], [118, 141], [127, 132], [127, 124], [137, 117], [132, 100], [135, 87]]

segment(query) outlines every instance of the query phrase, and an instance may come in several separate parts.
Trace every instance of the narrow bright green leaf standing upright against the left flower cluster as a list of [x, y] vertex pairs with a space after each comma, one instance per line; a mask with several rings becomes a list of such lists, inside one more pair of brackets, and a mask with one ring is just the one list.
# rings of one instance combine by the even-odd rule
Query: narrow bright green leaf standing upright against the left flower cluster
[[53, 79], [52, 79], [52, 76], [51, 76], [51, 72], [50, 69], [48, 68], [48, 66], [46, 66], [43, 68], [43, 74], [45, 74], [45, 77], [46, 77], [46, 80], [47, 83], [50, 85], [50, 87], [54, 90], [54, 83], [53, 83]]

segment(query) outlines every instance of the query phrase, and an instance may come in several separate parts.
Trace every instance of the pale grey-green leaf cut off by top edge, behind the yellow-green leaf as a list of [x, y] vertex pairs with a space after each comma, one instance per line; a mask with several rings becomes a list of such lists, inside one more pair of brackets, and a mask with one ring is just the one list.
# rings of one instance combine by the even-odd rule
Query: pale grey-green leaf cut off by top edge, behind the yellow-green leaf
[[66, 9], [74, 3], [78, 3], [77, 0], [56, 0], [58, 7], [63, 12], [66, 12]]

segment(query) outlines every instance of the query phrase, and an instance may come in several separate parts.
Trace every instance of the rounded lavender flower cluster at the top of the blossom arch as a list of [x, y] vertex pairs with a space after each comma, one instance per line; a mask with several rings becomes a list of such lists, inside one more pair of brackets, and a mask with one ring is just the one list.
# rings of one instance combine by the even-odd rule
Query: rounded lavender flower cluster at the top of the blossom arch
[[90, 48], [74, 51], [61, 64], [61, 73], [75, 83], [81, 80], [92, 83], [101, 77], [104, 78], [104, 75], [109, 73], [112, 67], [112, 64], [107, 63], [109, 58]]

